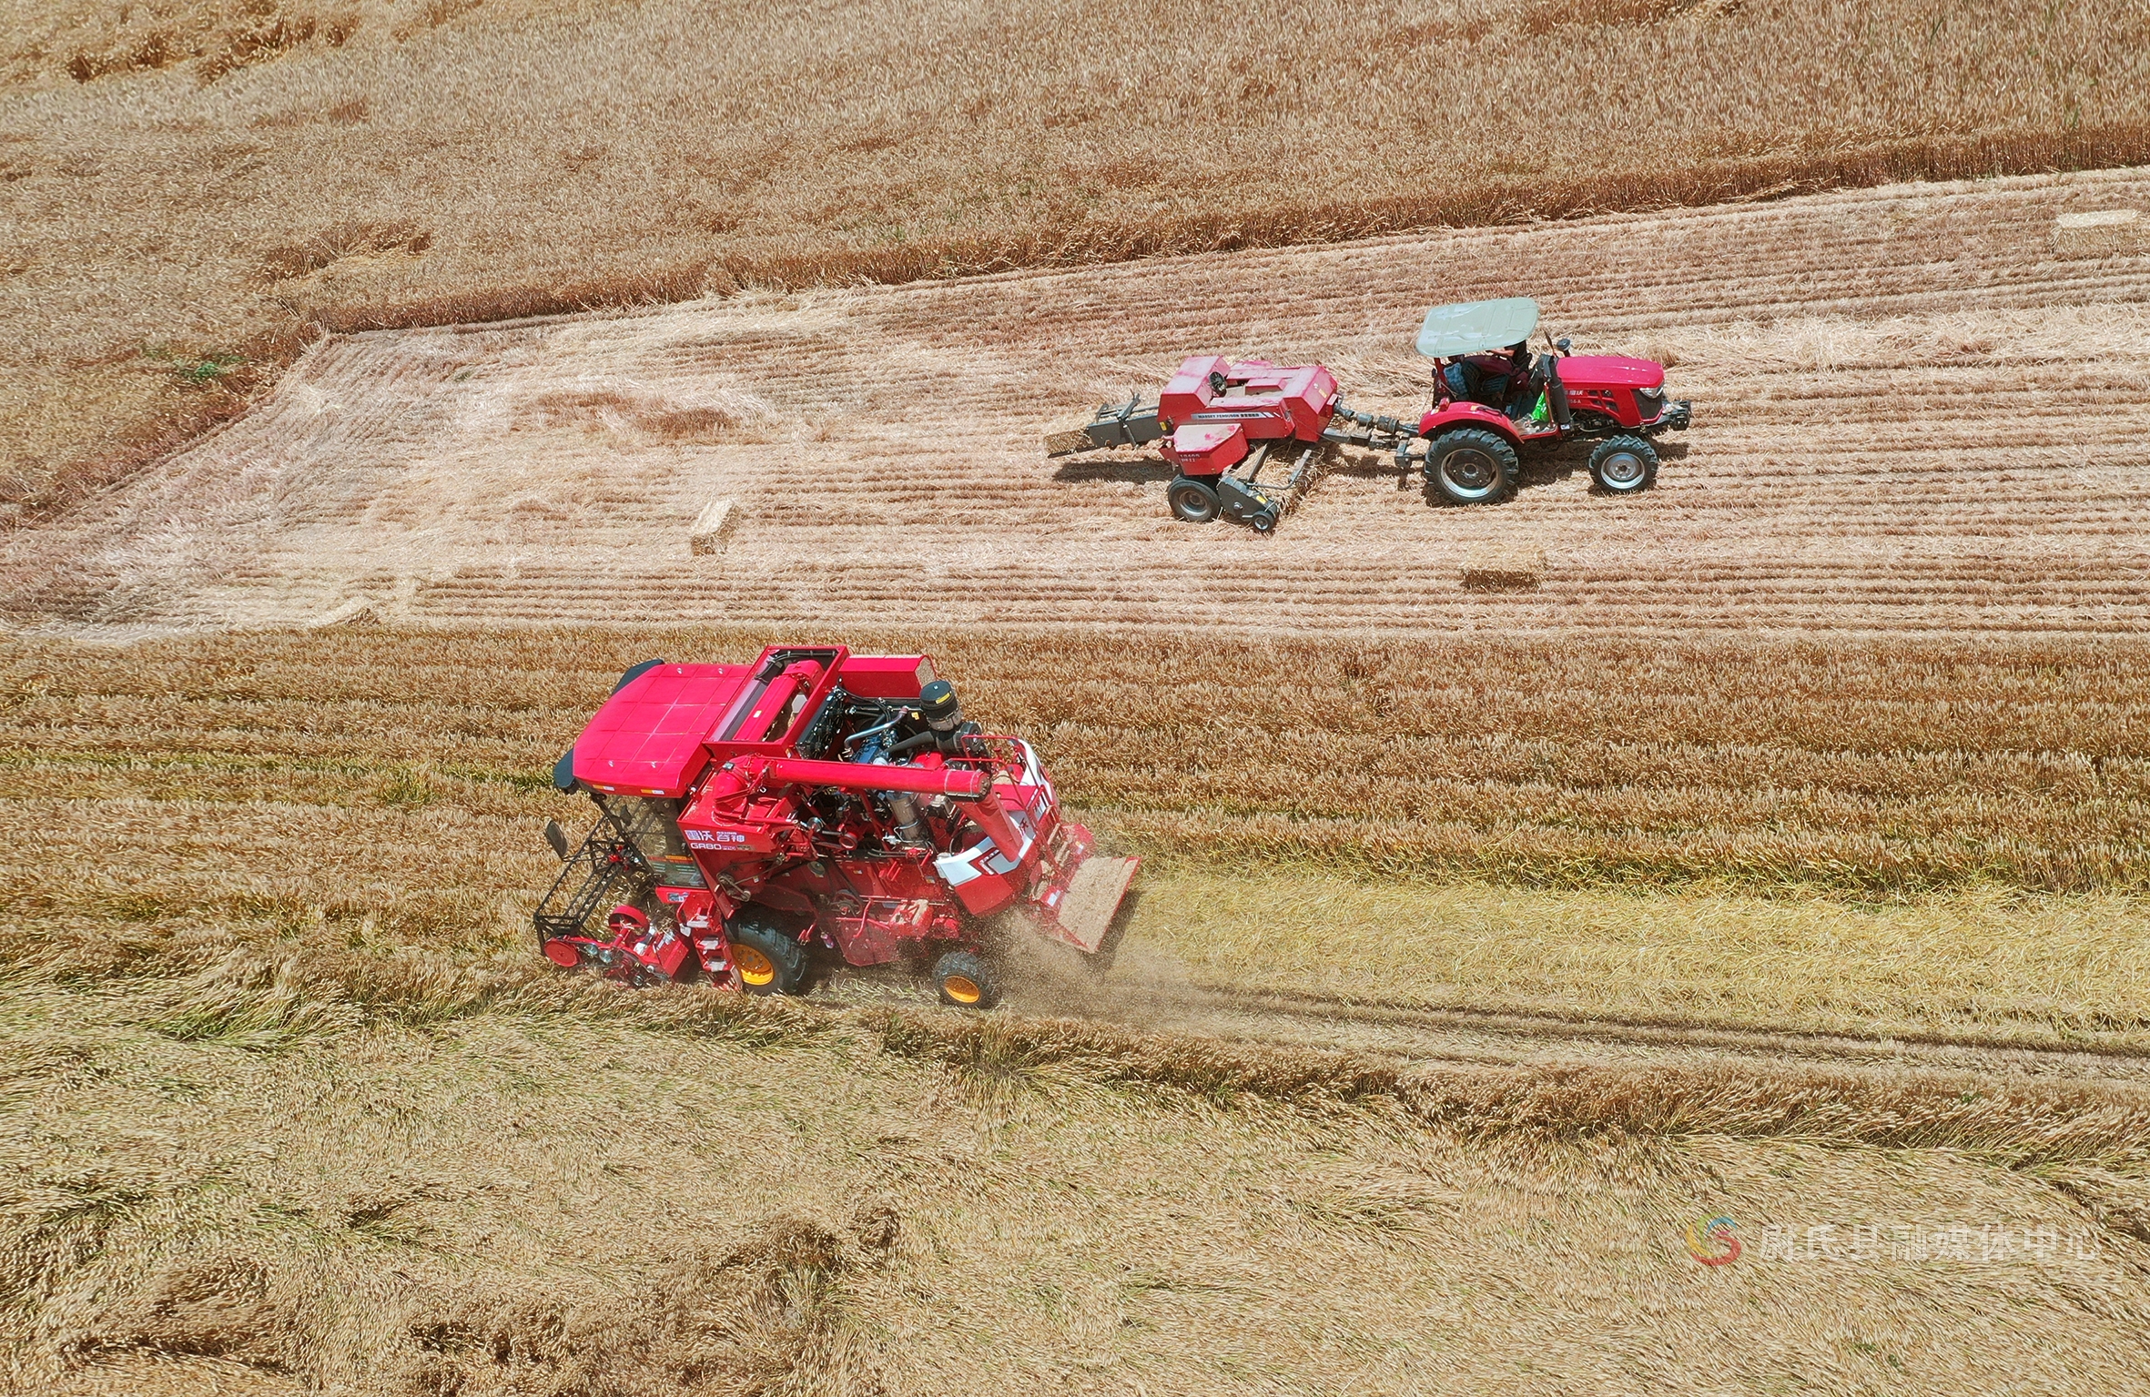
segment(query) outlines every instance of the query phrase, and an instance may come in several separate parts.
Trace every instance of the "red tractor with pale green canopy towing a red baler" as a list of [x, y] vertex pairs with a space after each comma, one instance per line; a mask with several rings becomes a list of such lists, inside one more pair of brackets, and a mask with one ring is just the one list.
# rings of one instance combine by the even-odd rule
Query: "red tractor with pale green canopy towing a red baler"
[[[1658, 479], [1660, 432], [1683, 432], [1688, 402], [1664, 393], [1664, 365], [1649, 359], [1570, 355], [1570, 342], [1531, 355], [1537, 301], [1471, 301], [1425, 312], [1417, 348], [1434, 361], [1434, 404], [1406, 423], [1344, 406], [1335, 374], [1318, 363], [1279, 368], [1260, 359], [1187, 359], [1155, 406], [1129, 398], [1101, 406], [1081, 428], [1045, 438], [1047, 456], [1163, 441], [1178, 469], [1165, 501], [1182, 520], [1226, 518], [1268, 533], [1299, 503], [1320, 447], [1391, 451], [1395, 469], [1425, 471], [1428, 490], [1458, 505], [1516, 492], [1518, 453], [1597, 438], [1591, 479], [1606, 494], [1634, 494]], [[1413, 456], [1413, 443], [1425, 449]], [[1296, 453], [1277, 496], [1256, 484], [1268, 458]]]

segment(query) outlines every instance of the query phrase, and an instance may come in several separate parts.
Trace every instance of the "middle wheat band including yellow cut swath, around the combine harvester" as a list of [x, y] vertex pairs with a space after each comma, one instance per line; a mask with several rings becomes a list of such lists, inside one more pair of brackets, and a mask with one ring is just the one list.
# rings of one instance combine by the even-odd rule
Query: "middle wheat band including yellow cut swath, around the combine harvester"
[[[15, 640], [0, 901], [522, 956], [617, 673], [774, 634]], [[2144, 1042], [2139, 649], [847, 638], [935, 656], [1152, 860], [1129, 952], [1174, 982]]]

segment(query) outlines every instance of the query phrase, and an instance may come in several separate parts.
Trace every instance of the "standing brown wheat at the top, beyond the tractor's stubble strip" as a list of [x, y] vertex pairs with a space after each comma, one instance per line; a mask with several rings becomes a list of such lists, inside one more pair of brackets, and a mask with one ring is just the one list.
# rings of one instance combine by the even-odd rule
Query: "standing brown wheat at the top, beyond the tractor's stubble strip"
[[318, 327], [2141, 163], [2146, 54], [2133, 0], [6, 0], [0, 503]]

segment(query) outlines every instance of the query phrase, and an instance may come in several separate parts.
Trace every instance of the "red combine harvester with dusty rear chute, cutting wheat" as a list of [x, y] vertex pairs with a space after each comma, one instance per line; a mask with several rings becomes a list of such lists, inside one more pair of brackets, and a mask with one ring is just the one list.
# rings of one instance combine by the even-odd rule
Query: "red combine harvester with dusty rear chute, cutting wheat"
[[1101, 959], [1137, 868], [1094, 853], [1030, 744], [965, 722], [924, 656], [639, 664], [553, 784], [600, 817], [572, 853], [546, 825], [565, 868], [538, 941], [630, 984], [789, 995], [817, 961], [903, 963], [991, 1008], [1006, 935]]

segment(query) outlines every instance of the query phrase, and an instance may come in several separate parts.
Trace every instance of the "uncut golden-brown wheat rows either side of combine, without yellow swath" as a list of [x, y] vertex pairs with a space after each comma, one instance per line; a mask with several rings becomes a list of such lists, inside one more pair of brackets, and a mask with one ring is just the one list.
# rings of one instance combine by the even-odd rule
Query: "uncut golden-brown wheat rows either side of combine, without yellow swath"
[[[546, 772], [608, 677], [774, 638], [798, 636], [15, 643], [15, 838], [73, 849], [95, 821], [112, 845], [86, 881], [24, 855], [13, 896], [363, 907], [417, 860], [372, 916], [518, 924], [542, 877], [529, 827], [574, 812]], [[1150, 853], [1542, 885], [2146, 881], [2133, 645], [847, 640], [933, 653], [983, 718], [1043, 746], [1066, 800]], [[318, 810], [264, 812], [290, 804]], [[462, 875], [417, 877], [443, 840], [467, 847]], [[138, 860], [161, 873], [123, 892]]]

